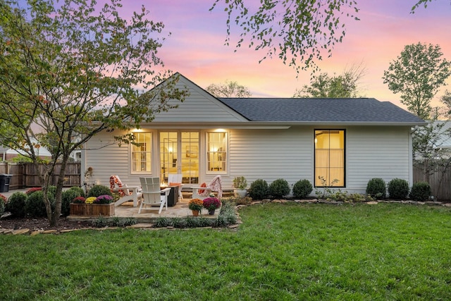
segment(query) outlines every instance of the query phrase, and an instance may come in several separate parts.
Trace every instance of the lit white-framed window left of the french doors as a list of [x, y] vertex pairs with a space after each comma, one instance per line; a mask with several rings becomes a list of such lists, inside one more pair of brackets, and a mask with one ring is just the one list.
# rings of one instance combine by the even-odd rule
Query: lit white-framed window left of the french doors
[[132, 145], [132, 172], [152, 172], [152, 133], [133, 133], [137, 145]]

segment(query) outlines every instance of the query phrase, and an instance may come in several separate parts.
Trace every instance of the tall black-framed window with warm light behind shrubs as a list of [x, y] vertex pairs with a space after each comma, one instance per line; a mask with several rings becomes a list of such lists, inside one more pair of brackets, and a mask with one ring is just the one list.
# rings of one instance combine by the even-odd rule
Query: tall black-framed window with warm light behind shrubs
[[345, 187], [345, 130], [315, 130], [315, 186]]

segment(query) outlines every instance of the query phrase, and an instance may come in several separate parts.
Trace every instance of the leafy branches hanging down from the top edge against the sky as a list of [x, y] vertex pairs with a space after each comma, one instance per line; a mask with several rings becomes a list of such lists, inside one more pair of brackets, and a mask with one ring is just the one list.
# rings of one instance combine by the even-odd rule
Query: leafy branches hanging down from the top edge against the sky
[[278, 56], [297, 71], [316, 68], [323, 53], [329, 56], [345, 37], [343, 18], [358, 20], [357, 1], [315, 0], [216, 0], [210, 10], [224, 4], [228, 14], [226, 44], [230, 44], [231, 23], [241, 27], [236, 47], [249, 38], [249, 48], [264, 50], [267, 57]]

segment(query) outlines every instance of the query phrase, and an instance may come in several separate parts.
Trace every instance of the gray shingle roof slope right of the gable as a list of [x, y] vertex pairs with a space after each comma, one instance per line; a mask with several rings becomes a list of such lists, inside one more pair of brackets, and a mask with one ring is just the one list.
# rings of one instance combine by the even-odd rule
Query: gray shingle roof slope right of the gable
[[424, 123], [391, 102], [374, 98], [218, 98], [249, 121]]

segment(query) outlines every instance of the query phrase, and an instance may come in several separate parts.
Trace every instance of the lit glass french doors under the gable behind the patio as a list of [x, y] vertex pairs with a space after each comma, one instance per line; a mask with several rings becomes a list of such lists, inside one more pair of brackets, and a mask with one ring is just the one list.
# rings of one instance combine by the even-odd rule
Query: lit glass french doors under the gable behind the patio
[[181, 173], [185, 184], [199, 184], [199, 132], [160, 132], [160, 174]]

